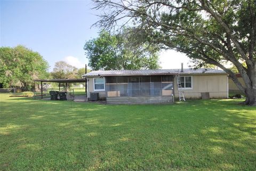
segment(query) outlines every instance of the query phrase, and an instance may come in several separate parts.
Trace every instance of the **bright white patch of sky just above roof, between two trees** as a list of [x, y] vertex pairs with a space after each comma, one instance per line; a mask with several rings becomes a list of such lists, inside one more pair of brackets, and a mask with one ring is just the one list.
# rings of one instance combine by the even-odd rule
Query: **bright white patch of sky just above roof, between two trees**
[[186, 54], [174, 50], [167, 50], [162, 51], [159, 56], [162, 69], [180, 69], [181, 63], [183, 63], [183, 68], [189, 68], [189, 58]]

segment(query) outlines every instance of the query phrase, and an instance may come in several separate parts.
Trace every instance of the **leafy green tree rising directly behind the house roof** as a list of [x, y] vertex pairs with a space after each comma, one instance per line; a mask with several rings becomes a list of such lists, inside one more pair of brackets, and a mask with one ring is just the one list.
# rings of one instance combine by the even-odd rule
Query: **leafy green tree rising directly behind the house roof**
[[134, 48], [128, 31], [111, 35], [101, 31], [98, 38], [84, 45], [89, 66], [93, 70], [158, 69], [158, 49], [143, 43]]

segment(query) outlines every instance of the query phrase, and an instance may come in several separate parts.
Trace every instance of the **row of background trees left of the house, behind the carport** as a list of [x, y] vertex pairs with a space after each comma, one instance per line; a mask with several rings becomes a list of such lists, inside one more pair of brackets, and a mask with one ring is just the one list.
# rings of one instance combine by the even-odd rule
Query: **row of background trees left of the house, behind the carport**
[[78, 69], [65, 61], [56, 62], [49, 72], [43, 56], [22, 45], [0, 47], [0, 65], [0, 88], [33, 88], [35, 79], [82, 78], [85, 74], [85, 68]]

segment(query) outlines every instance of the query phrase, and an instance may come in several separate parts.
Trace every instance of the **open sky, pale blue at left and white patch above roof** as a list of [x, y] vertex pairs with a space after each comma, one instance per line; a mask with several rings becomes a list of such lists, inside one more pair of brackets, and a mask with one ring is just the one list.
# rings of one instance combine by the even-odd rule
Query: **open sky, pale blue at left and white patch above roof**
[[[84, 1], [5, 1], [0, 0], [0, 46], [24, 45], [49, 63], [66, 61], [77, 68], [88, 64], [83, 46], [98, 37], [99, 20], [93, 2]], [[185, 54], [173, 50], [159, 54], [162, 69], [188, 68]]]

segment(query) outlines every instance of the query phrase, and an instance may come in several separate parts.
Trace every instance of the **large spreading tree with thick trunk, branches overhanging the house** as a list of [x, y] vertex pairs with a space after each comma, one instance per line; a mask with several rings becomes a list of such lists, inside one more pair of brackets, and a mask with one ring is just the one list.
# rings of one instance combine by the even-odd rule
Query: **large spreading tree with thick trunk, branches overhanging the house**
[[[256, 105], [255, 0], [95, 0], [104, 9], [98, 26], [113, 29], [133, 23], [137, 35], [186, 53], [199, 64], [225, 70], [246, 94], [244, 104]], [[246, 87], [223, 62], [231, 62]], [[243, 66], [243, 63], [246, 66]]]

